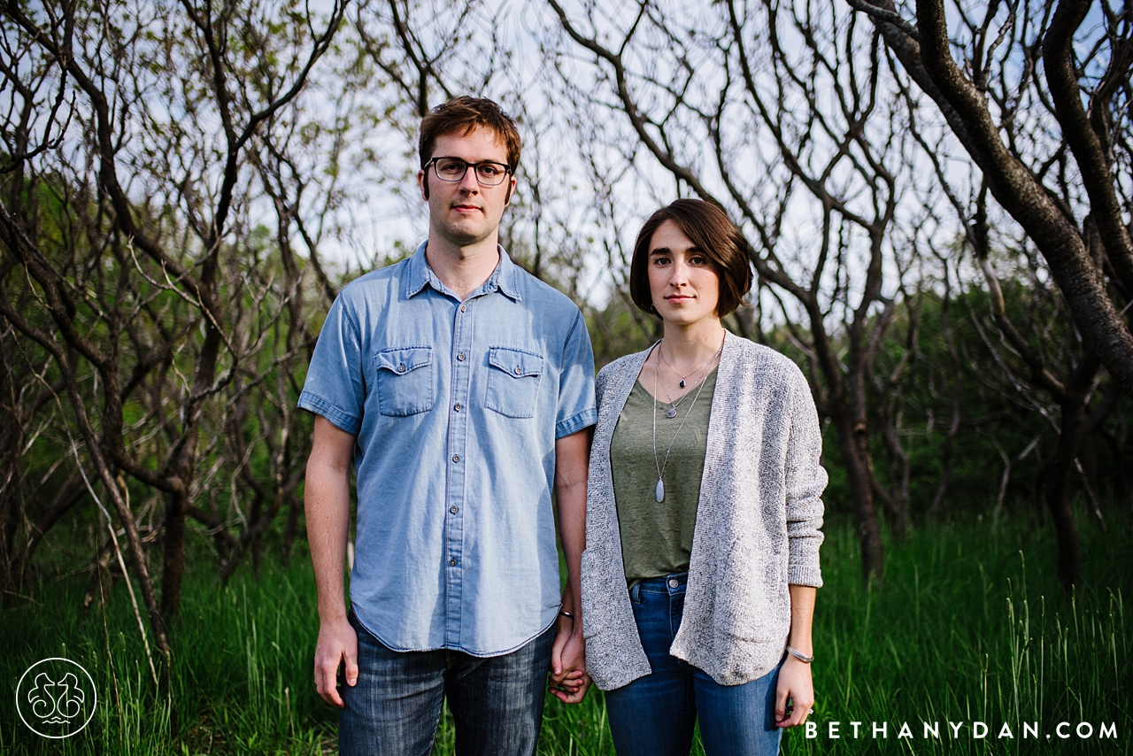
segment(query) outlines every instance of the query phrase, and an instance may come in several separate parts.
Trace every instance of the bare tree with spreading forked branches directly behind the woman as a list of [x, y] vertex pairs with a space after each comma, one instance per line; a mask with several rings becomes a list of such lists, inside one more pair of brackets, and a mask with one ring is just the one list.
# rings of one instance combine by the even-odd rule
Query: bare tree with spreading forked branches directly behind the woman
[[[777, 312], [806, 355], [847, 473], [863, 571], [880, 575], [878, 500], [898, 534], [909, 520], [872, 467], [868, 394], [905, 266], [897, 219], [918, 147], [879, 34], [821, 3], [548, 5], [564, 37], [560, 101], [606, 130], [598, 159], [634, 165], [648, 187], [639, 194], [721, 203], [749, 235], [760, 312]], [[627, 185], [599, 194], [619, 190], [633, 196]]]

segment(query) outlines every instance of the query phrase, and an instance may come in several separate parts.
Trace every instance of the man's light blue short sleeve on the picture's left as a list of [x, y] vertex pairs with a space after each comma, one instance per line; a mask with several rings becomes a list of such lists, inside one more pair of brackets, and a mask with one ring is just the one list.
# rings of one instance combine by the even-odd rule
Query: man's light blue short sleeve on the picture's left
[[337, 427], [358, 435], [366, 400], [361, 340], [343, 295], [338, 296], [326, 314], [299, 394], [299, 408], [322, 415]]

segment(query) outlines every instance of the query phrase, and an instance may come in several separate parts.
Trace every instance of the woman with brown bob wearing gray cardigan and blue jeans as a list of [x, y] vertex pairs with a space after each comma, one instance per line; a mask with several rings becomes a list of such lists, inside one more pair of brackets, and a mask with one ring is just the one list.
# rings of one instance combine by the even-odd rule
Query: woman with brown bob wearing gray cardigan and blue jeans
[[582, 618], [620, 756], [774, 754], [813, 703], [826, 472], [810, 388], [727, 333], [747, 244], [714, 204], [646, 222], [634, 304], [664, 338], [598, 374]]

